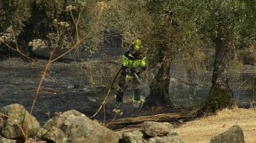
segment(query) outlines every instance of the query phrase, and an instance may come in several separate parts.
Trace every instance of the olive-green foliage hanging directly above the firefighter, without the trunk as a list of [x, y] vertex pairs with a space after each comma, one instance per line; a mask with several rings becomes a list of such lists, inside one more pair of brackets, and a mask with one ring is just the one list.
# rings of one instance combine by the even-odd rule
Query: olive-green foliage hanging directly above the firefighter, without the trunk
[[[186, 1], [183, 3], [186, 4]], [[180, 5], [180, 1], [110, 1], [109, 4], [111, 8], [105, 15], [105, 28], [121, 34], [125, 42], [134, 38], [143, 39], [143, 44], [148, 48], [148, 60], [152, 60], [153, 66], [158, 61], [160, 45], [166, 48], [166, 58], [182, 54], [186, 48], [191, 50], [198, 45], [195, 44], [198, 41], [191, 40], [198, 38], [195, 35], [195, 23], [192, 25], [191, 19], [184, 19], [188, 17], [184, 13], [189, 14], [189, 11]], [[164, 16], [168, 10], [174, 13], [172, 24], [172, 17], [167, 19]]]

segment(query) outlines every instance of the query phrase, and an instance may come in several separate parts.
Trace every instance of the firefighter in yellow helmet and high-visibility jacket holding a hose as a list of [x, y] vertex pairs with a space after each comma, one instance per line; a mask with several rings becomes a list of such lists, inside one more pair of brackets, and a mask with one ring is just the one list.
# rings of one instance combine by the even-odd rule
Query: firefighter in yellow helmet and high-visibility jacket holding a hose
[[134, 109], [140, 108], [140, 77], [139, 75], [146, 69], [146, 57], [141, 52], [142, 41], [136, 39], [129, 45], [129, 50], [125, 51], [122, 57], [122, 71], [119, 78], [119, 89], [116, 92], [117, 108], [122, 105], [124, 90], [126, 89], [126, 81], [130, 80], [133, 87], [133, 105]]

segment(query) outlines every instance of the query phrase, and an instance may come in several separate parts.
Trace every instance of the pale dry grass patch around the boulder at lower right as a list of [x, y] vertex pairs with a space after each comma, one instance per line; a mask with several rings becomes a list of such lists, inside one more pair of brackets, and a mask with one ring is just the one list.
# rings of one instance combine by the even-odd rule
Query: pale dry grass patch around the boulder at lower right
[[256, 109], [223, 109], [216, 115], [190, 121], [176, 131], [186, 142], [210, 142], [213, 136], [228, 130], [234, 124], [242, 127], [245, 142], [256, 142]]

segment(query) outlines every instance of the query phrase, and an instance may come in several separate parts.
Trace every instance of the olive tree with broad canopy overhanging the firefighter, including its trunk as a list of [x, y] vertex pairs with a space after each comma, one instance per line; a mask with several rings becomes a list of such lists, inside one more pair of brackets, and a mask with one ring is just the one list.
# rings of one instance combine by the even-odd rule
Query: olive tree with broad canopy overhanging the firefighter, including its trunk
[[[149, 78], [149, 105], [172, 105], [169, 95], [170, 64], [173, 59], [195, 56], [199, 36], [186, 1], [110, 1], [105, 28], [123, 40], [143, 40]], [[185, 6], [184, 6], [184, 5]]]

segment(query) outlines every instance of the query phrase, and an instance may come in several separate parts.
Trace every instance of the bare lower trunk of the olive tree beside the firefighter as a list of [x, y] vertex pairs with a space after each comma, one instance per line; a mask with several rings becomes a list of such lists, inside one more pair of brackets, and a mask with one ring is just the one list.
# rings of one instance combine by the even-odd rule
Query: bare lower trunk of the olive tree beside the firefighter
[[164, 61], [150, 84], [150, 93], [146, 99], [149, 105], [172, 105], [169, 98], [170, 61]]

